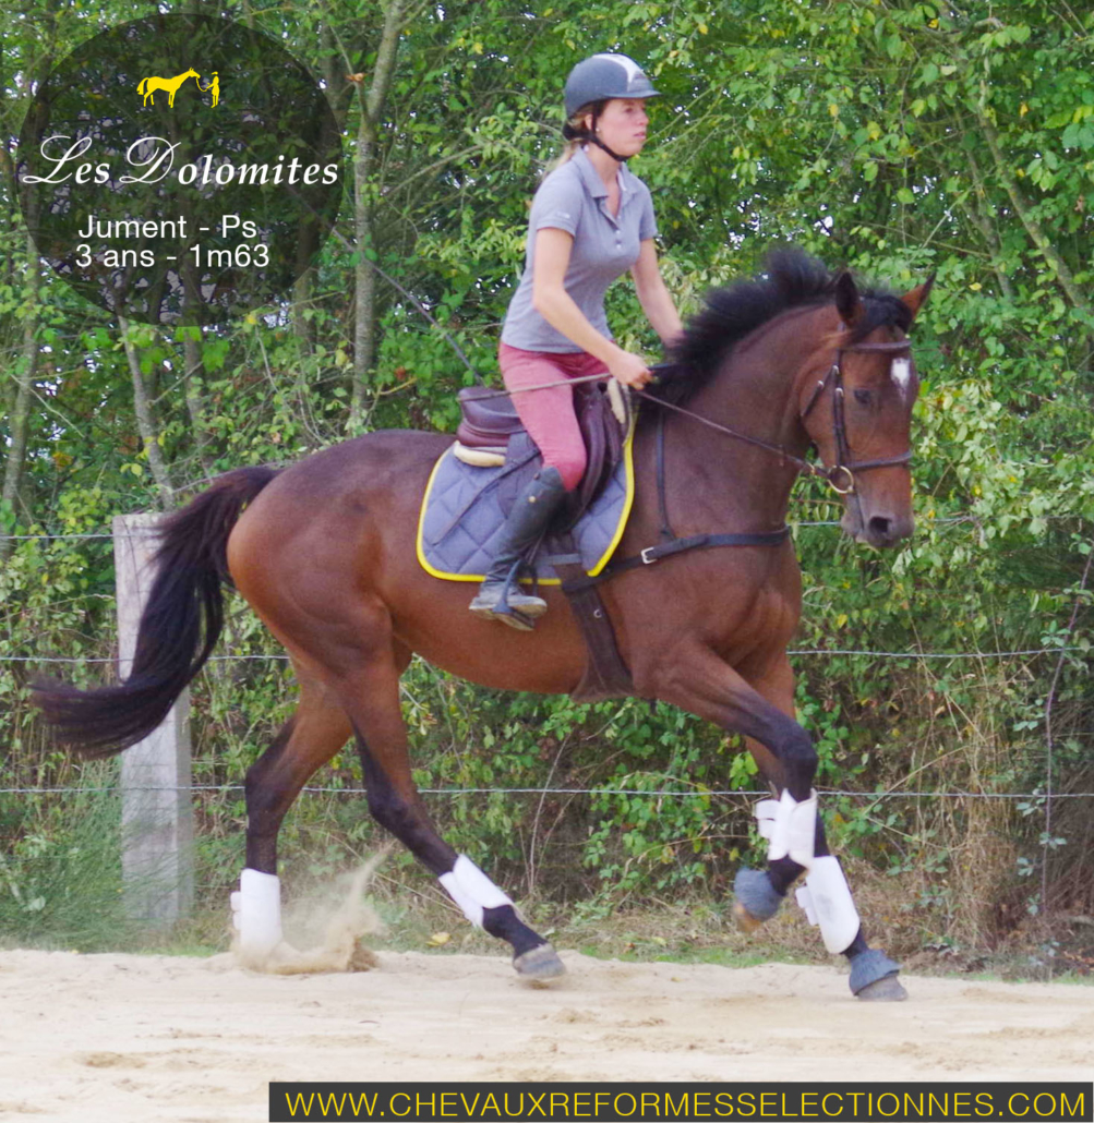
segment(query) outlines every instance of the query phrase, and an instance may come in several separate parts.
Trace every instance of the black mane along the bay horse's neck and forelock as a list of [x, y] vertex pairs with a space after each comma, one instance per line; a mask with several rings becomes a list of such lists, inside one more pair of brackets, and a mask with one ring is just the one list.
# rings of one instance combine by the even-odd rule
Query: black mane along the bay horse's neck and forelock
[[[781, 312], [806, 304], [826, 304], [835, 299], [839, 274], [829, 273], [815, 257], [796, 248], [775, 250], [767, 256], [764, 274], [755, 281], [738, 281], [706, 295], [706, 307], [691, 318], [683, 339], [668, 353], [672, 367], [649, 393], [681, 405], [704, 386], [729, 351], [762, 323]], [[892, 325], [906, 331], [912, 313], [893, 293], [859, 289], [865, 314], [855, 325], [850, 341], [858, 341], [875, 328]]]

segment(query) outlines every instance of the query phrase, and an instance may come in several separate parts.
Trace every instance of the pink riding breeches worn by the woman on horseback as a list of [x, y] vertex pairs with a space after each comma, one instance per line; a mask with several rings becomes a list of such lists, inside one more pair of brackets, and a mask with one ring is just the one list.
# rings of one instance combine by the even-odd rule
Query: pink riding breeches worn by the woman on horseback
[[[586, 351], [526, 351], [509, 344], [499, 346], [498, 365], [505, 389], [513, 391], [522, 386], [539, 386], [545, 382], [608, 373], [608, 367]], [[566, 491], [573, 491], [585, 474], [585, 442], [574, 413], [573, 389], [554, 386], [550, 390], [514, 393], [513, 405], [543, 453], [544, 466], [557, 468]]]

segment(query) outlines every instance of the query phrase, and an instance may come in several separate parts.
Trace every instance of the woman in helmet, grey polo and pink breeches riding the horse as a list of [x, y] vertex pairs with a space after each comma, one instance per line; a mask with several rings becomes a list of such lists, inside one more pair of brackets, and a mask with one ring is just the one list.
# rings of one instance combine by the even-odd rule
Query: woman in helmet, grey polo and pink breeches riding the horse
[[[498, 351], [511, 391], [590, 374], [611, 374], [625, 386], [649, 382], [645, 359], [613, 343], [604, 318], [604, 292], [628, 270], [662, 341], [672, 344], [682, 330], [657, 267], [649, 189], [627, 168], [646, 143], [646, 99], [656, 97], [627, 55], [593, 55], [566, 79], [566, 147], [532, 199], [525, 272]], [[530, 619], [547, 603], [522, 592], [516, 573], [522, 553], [581, 482], [585, 446], [571, 386], [513, 393], [513, 404], [543, 454], [543, 468], [517, 496], [469, 608], [530, 631]]]

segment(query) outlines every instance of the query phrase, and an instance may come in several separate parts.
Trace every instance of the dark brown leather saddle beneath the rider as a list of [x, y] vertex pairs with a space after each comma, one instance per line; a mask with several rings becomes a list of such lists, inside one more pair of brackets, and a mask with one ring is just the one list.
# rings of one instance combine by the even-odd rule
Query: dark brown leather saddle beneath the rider
[[[456, 429], [453, 453], [465, 464], [510, 468], [501, 492], [502, 508], [508, 512], [528, 478], [539, 471], [538, 449], [509, 394], [485, 386], [466, 386], [458, 399], [463, 418]], [[581, 484], [567, 496], [556, 519], [553, 529], [557, 532], [573, 527], [612, 477], [631, 423], [630, 399], [614, 378], [607, 386], [599, 383], [574, 386], [574, 412], [585, 441], [587, 464]]]

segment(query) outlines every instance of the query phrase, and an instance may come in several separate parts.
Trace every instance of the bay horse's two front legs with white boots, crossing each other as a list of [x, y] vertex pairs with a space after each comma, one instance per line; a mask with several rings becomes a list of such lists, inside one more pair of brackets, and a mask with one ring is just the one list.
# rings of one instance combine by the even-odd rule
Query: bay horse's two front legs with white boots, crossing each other
[[[819, 924], [824, 946], [847, 957], [851, 992], [864, 999], [906, 997], [900, 970], [883, 951], [872, 949], [839, 859], [829, 852], [812, 789], [817, 752], [794, 718], [794, 677], [785, 656], [746, 682], [709, 650], [690, 652], [675, 664], [673, 684], [660, 696], [744, 733], [775, 798], [757, 805], [760, 833], [768, 842], [766, 870], [737, 875], [735, 914], [746, 931], [778, 911], [793, 883], [805, 875], [799, 903]], [[673, 696], [668, 696], [672, 694]]]

